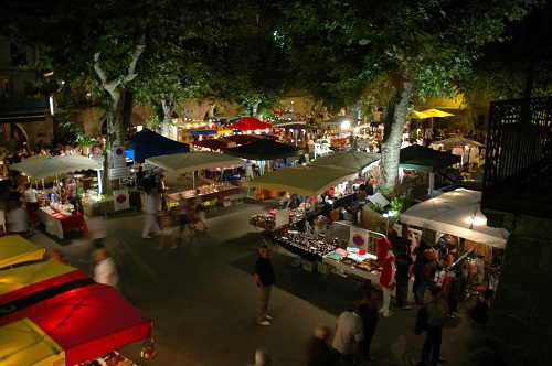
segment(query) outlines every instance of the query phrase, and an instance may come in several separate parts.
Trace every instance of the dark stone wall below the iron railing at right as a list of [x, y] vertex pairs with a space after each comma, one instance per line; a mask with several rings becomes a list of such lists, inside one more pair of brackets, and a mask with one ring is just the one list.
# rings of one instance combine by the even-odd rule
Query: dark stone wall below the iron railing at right
[[552, 220], [509, 217], [511, 233], [488, 334], [503, 342], [511, 365], [552, 359]]

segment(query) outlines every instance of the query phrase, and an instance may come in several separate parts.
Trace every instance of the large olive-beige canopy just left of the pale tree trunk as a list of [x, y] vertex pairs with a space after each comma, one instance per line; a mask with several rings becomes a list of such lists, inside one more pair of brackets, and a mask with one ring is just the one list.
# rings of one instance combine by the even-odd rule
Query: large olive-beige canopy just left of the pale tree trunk
[[328, 166], [290, 166], [264, 174], [250, 182], [250, 187], [288, 191], [317, 197], [331, 186], [350, 181], [357, 171]]

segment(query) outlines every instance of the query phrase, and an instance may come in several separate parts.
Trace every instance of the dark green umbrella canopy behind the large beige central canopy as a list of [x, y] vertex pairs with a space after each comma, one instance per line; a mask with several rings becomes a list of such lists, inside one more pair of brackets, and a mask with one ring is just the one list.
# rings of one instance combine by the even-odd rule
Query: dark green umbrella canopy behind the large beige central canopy
[[297, 148], [270, 139], [261, 139], [241, 147], [224, 149], [223, 153], [251, 160], [274, 160], [288, 157], [300, 157], [308, 153], [308, 148]]

